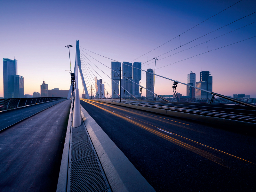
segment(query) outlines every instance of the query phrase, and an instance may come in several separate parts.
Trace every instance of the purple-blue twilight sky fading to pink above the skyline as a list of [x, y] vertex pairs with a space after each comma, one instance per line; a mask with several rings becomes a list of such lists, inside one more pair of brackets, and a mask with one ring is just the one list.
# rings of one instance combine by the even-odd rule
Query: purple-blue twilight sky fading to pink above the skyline
[[[73, 46], [70, 48], [73, 70], [76, 40], [79, 40], [84, 48], [81, 48], [81, 55], [84, 52], [90, 55], [84, 53], [108, 76], [111, 70], [98, 61], [111, 68], [112, 60], [92, 52], [121, 62], [142, 62], [143, 70], [154, 69], [155, 63], [151, 59], [157, 57], [156, 74], [183, 83], [187, 83], [190, 71], [196, 73], [196, 82], [200, 81], [200, 71], [210, 71], [213, 92], [226, 96], [245, 93], [256, 97], [256, 37], [251, 38], [256, 36], [256, 23], [253, 23], [256, 13], [240, 19], [256, 11], [256, 1], [236, 2], [0, 1], [0, 58], [13, 60], [15, 57], [18, 60], [18, 75], [24, 77], [24, 94], [40, 92], [43, 81], [49, 84], [49, 89], [68, 90], [70, 65], [68, 48], [65, 46]], [[235, 20], [238, 21], [216, 30]], [[248, 26], [243, 27], [245, 25]], [[228, 33], [230, 31], [233, 32]], [[207, 33], [210, 34], [205, 35]], [[176, 36], [179, 37], [174, 38]], [[213, 39], [215, 37], [218, 38]], [[242, 41], [244, 39], [248, 40]], [[193, 42], [188, 43], [190, 41]], [[207, 44], [204, 43], [206, 41]], [[238, 41], [242, 42], [236, 43]], [[233, 45], [217, 49], [229, 44]], [[195, 45], [198, 46], [193, 47]], [[90, 64], [95, 69], [92, 69], [94, 75], [91, 75], [98, 79], [101, 76], [103, 81], [111, 85], [107, 75]], [[94, 86], [91, 75], [87, 77], [88, 82], [86, 80], [88, 87]], [[87, 76], [85, 72], [84, 76]], [[155, 92], [160, 95], [173, 94], [172, 83], [156, 77]], [[144, 72], [140, 84], [146, 86]], [[111, 92], [110, 87], [105, 86]], [[80, 78], [79, 90], [80, 93], [83, 90]], [[186, 86], [179, 84], [176, 91], [186, 95]], [[146, 96], [146, 91], [142, 94]], [[3, 97], [3, 67], [0, 68], [0, 97]]]

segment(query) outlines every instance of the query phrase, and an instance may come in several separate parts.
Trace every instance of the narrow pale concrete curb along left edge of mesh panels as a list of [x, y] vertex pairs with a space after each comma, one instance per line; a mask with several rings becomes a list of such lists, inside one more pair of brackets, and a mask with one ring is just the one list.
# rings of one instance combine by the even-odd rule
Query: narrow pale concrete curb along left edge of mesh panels
[[67, 191], [67, 184], [68, 184], [68, 158], [69, 158], [69, 144], [70, 144], [70, 131], [71, 131], [71, 124], [72, 124], [72, 103], [70, 106], [70, 112], [68, 117], [68, 127], [67, 133], [64, 142], [64, 148], [61, 158], [60, 164], [60, 173], [58, 179], [58, 185], [56, 191]]

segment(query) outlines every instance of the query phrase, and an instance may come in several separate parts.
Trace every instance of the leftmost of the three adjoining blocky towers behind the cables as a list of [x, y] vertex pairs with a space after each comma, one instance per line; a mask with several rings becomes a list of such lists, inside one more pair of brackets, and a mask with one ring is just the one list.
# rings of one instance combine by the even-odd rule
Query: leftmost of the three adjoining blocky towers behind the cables
[[119, 95], [119, 85], [118, 84], [119, 84], [120, 77], [119, 77], [119, 74], [117, 74], [115, 72], [115, 70], [118, 73], [120, 73], [119, 72], [120, 67], [121, 67], [121, 62], [116, 62], [116, 61], [111, 62], [111, 69], [114, 70], [114, 71], [111, 70], [111, 79], [112, 79], [111, 85], [112, 85], [112, 89], [115, 91], [115, 94], [114, 94], [114, 91], [112, 90], [111, 97], [113, 97], [113, 98], [118, 98], [118, 95]]

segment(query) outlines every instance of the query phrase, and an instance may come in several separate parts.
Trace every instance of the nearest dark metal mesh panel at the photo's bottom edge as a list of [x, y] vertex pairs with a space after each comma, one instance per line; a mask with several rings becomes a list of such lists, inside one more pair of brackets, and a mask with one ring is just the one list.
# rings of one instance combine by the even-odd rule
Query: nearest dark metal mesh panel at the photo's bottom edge
[[93, 154], [70, 164], [70, 191], [106, 191], [106, 179]]

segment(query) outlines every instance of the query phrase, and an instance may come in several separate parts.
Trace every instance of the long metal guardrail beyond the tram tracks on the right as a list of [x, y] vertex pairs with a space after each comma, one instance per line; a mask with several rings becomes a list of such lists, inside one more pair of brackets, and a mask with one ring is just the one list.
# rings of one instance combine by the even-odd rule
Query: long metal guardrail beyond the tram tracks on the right
[[[107, 99], [107, 98], [105, 98]], [[111, 98], [108, 98], [108, 99], [111, 99]], [[119, 99], [118, 98], [113, 98], [113, 99]], [[131, 98], [122, 98], [123, 100], [131, 100]], [[143, 97], [143, 99], [141, 97], [137, 97], [138, 100], [146, 100], [146, 101], [152, 101], [152, 98], [147, 98], [147, 97]], [[168, 101], [171, 101], [171, 102], [177, 102], [176, 98], [165, 98], [166, 100]], [[211, 102], [212, 98], [179, 98], [180, 99], [180, 102], [185, 102], [185, 103], [209, 103]], [[134, 99], [132, 99], [134, 100]], [[157, 101], [164, 101], [162, 100], [161, 98], [158, 98], [156, 97], [156, 100]], [[250, 104], [253, 104], [253, 105], [256, 105], [256, 99], [236, 99], [236, 100], [239, 100], [239, 101], [243, 101], [243, 102], [246, 102], [246, 103], [250, 103]], [[231, 101], [231, 100], [227, 100], [227, 99], [224, 99], [224, 98], [214, 98], [213, 101], [212, 101], [212, 104], [232, 104], [232, 105], [243, 105], [241, 103], [237, 103], [235, 101]]]

